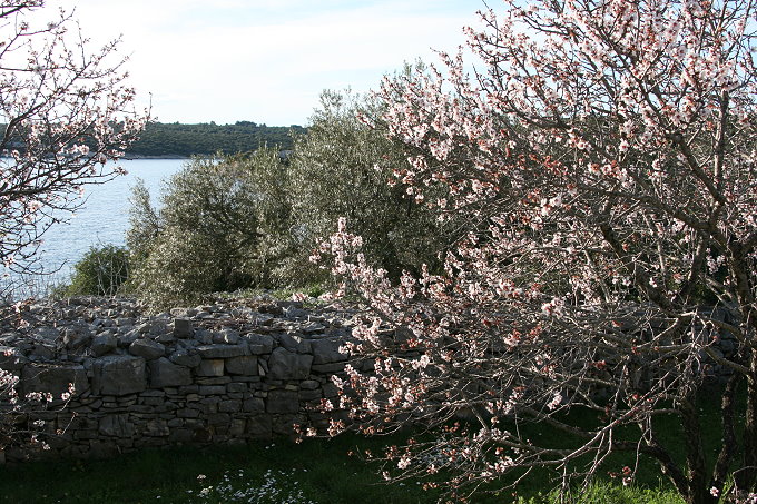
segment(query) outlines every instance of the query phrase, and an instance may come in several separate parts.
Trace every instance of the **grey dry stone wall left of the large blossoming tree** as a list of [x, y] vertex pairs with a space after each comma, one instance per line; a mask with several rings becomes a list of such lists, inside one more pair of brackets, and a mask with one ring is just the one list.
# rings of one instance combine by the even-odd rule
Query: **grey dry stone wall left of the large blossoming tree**
[[[322, 398], [344, 369], [351, 313], [301, 303], [216, 304], [147, 316], [129, 299], [38, 302], [4, 310], [0, 368], [21, 393], [56, 398], [50, 449], [8, 447], [19, 461], [108, 456], [140, 447], [223, 444], [323, 425]], [[57, 432], [57, 434], [56, 434]]]

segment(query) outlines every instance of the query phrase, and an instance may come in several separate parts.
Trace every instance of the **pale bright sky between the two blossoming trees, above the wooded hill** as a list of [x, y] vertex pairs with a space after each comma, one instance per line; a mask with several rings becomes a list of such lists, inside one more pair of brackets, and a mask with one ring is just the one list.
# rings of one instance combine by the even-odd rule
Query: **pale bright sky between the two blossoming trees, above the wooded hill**
[[[324, 89], [376, 89], [454, 52], [481, 0], [49, 0], [82, 32], [122, 36], [130, 82], [161, 122], [306, 125]], [[46, 8], [47, 9], [47, 8]]]

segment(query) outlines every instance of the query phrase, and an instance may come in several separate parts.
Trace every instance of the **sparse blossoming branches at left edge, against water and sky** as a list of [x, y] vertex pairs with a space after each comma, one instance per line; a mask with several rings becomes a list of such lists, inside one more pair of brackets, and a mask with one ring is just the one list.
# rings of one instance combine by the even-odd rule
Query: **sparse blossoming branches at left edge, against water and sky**
[[91, 50], [71, 14], [35, 19], [43, 3], [0, 1], [0, 259], [16, 273], [33, 269], [40, 237], [83, 185], [119, 172], [106, 161], [147, 117], [131, 107], [118, 41]]

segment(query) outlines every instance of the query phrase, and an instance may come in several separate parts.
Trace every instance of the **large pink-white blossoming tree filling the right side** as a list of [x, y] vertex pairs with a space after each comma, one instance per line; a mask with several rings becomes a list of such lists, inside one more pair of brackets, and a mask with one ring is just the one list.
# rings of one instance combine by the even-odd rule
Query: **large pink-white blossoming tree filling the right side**
[[[363, 366], [326, 407], [371, 433], [439, 426], [389, 455], [400, 476], [450, 471], [453, 488], [534, 466], [593, 475], [626, 452], [625, 482], [645, 455], [688, 503], [716, 501], [734, 464], [730, 491], [754, 492], [754, 2], [504, 4], [468, 29], [472, 71], [461, 51], [444, 73], [384, 81], [383, 119], [414, 152], [395, 182], [469, 233], [443, 274], [399, 286], [348, 223], [324, 244], [372, 308], [348, 345]], [[698, 398], [715, 382], [710, 454]], [[681, 438], [659, 437], [666, 418]], [[566, 444], [540, 445], [533, 423]]]

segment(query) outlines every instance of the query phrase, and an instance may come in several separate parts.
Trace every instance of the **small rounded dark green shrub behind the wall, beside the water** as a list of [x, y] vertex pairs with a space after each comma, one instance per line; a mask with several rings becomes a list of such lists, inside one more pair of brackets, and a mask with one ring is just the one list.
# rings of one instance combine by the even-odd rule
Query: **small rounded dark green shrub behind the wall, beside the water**
[[129, 253], [125, 247], [91, 247], [73, 266], [70, 285], [53, 294], [62, 297], [115, 296], [129, 277]]

